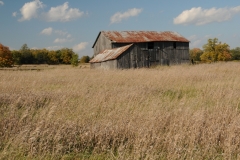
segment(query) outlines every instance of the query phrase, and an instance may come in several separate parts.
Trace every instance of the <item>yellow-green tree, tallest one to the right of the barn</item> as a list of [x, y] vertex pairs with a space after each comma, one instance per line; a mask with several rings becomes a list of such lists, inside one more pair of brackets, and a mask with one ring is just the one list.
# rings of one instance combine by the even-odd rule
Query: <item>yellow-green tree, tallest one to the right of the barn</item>
[[231, 60], [229, 45], [218, 42], [217, 38], [208, 39], [208, 43], [203, 45], [203, 54], [200, 58], [205, 62]]

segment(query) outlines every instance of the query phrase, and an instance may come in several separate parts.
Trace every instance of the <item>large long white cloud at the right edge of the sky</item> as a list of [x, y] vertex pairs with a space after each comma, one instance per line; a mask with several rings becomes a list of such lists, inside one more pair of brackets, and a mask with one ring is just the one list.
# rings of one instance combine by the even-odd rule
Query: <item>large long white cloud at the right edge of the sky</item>
[[232, 8], [210, 8], [202, 9], [201, 7], [192, 8], [183, 11], [174, 18], [174, 24], [183, 25], [204, 25], [212, 22], [223, 22], [231, 19], [235, 14], [240, 13], [240, 6]]

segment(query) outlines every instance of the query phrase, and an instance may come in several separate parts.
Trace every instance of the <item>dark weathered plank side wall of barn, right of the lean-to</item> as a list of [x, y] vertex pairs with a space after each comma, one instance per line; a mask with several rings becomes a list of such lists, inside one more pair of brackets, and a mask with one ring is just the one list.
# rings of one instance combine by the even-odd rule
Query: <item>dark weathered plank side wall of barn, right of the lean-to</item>
[[131, 57], [137, 68], [189, 63], [188, 42], [154, 42], [154, 49], [147, 48], [148, 43], [135, 44]]

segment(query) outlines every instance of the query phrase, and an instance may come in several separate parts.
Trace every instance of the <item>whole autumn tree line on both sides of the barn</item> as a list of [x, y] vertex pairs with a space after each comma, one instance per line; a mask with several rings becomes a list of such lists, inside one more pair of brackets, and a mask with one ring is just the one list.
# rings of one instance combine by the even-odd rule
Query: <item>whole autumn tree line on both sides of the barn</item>
[[[195, 62], [216, 62], [240, 60], [240, 47], [230, 49], [227, 43], [221, 43], [217, 38], [208, 39], [203, 49], [190, 49], [190, 58]], [[29, 49], [24, 44], [19, 50], [10, 51], [7, 46], [0, 44], [0, 67], [11, 67], [21, 64], [72, 64], [88, 63], [89, 56], [81, 57], [72, 49], [62, 48], [60, 50]]]

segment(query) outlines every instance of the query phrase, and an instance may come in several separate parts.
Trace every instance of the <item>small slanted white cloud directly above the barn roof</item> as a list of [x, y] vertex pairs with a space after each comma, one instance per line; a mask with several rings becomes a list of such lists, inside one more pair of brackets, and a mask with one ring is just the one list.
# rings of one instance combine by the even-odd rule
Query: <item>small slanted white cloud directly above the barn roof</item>
[[123, 13], [117, 12], [110, 18], [111, 24], [120, 23], [122, 20], [128, 19], [129, 17], [137, 16], [141, 12], [142, 12], [142, 9], [137, 9], [137, 8], [129, 9], [128, 11]]

